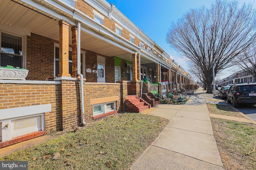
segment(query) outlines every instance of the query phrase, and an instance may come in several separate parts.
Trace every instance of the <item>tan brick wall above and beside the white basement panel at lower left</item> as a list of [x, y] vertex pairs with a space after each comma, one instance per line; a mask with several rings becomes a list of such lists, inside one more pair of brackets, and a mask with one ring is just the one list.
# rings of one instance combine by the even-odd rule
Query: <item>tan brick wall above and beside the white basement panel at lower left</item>
[[60, 84], [0, 84], [0, 109], [51, 104], [45, 113], [47, 132], [61, 130]]

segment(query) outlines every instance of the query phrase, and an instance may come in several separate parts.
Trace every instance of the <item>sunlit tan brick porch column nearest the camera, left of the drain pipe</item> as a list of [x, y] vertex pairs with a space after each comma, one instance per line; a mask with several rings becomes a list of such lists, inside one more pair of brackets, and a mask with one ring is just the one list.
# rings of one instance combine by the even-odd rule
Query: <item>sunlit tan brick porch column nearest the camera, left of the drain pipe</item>
[[60, 57], [60, 74], [58, 74], [58, 77], [70, 77], [70, 74], [68, 72], [68, 27], [69, 22], [60, 20], [59, 21], [59, 27], [60, 27], [60, 49], [59, 49], [59, 57]]

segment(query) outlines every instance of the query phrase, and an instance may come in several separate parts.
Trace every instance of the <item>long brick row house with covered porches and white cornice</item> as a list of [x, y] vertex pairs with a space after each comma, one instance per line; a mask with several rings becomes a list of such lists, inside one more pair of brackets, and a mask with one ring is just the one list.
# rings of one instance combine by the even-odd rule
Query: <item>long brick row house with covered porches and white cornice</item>
[[29, 70], [26, 79], [0, 70], [0, 148], [128, 110], [144, 78], [159, 93], [194, 83], [105, 0], [0, 0], [0, 9], [0, 66]]

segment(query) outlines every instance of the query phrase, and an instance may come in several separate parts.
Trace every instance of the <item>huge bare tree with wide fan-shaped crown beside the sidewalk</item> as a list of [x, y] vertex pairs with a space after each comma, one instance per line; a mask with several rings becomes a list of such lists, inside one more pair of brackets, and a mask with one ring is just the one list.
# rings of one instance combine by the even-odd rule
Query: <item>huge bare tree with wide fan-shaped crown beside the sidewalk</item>
[[210, 9], [204, 6], [190, 10], [173, 23], [166, 40], [188, 61], [198, 65], [204, 74], [207, 93], [212, 93], [215, 75], [231, 66], [240, 53], [256, 44], [256, 12], [252, 5], [238, 8], [238, 2], [216, 0]]

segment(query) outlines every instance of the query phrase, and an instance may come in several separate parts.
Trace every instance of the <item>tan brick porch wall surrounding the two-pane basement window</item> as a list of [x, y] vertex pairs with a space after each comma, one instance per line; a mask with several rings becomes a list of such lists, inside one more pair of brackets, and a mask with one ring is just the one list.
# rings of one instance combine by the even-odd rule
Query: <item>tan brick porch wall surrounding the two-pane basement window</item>
[[120, 107], [120, 89], [120, 84], [84, 83], [85, 121], [91, 121], [93, 117], [93, 106], [90, 105], [90, 99], [119, 96], [119, 100], [116, 102], [116, 110], [121, 111], [122, 107]]

